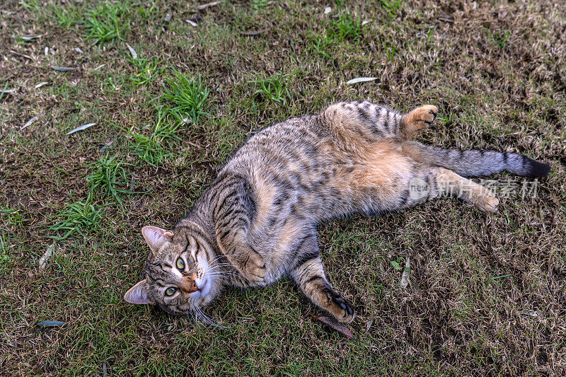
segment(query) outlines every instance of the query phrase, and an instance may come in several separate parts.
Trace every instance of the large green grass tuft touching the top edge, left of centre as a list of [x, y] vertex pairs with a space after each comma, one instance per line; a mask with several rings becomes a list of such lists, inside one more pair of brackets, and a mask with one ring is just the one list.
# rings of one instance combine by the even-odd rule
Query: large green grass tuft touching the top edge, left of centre
[[121, 1], [104, 3], [88, 11], [84, 20], [87, 38], [94, 40], [93, 45], [123, 39], [129, 24], [123, 19], [126, 11], [127, 4]]

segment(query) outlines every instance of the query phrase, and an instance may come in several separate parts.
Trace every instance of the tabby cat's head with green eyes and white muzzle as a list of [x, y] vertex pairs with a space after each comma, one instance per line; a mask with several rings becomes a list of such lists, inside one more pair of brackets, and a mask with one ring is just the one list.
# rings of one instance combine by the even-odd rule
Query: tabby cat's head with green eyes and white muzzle
[[202, 232], [190, 227], [166, 231], [156, 226], [141, 229], [151, 253], [144, 279], [124, 295], [125, 301], [157, 305], [175, 315], [187, 315], [207, 305], [217, 294], [214, 252]]

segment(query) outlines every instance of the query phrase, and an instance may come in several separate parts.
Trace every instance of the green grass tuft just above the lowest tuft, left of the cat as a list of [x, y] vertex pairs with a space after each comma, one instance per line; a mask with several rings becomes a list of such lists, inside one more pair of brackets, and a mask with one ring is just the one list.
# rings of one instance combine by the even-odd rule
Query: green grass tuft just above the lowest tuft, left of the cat
[[93, 172], [88, 175], [86, 181], [91, 197], [98, 191], [104, 197], [112, 197], [122, 206], [122, 200], [118, 194], [129, 193], [128, 190], [119, 188], [127, 187], [127, 175], [124, 166], [129, 165], [116, 161], [117, 154], [112, 157], [100, 157], [98, 161], [91, 165]]

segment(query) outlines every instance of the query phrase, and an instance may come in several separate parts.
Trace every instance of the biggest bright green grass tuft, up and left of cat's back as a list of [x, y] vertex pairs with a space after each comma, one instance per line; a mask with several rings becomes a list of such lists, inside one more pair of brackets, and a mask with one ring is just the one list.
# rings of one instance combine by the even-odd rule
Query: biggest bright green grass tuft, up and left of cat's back
[[204, 112], [204, 101], [209, 95], [208, 88], [202, 86], [200, 76], [198, 79], [187, 79], [178, 72], [167, 79], [163, 98], [171, 102], [167, 111], [173, 114], [180, 122], [197, 124]]

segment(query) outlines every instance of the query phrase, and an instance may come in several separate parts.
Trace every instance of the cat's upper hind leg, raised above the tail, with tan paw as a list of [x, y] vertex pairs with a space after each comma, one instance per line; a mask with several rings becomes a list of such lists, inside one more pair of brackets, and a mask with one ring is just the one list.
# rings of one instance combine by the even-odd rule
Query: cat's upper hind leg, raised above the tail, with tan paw
[[381, 139], [408, 140], [431, 124], [437, 112], [436, 106], [424, 105], [402, 115], [368, 101], [340, 102], [324, 110], [320, 120], [342, 148], [356, 151]]

